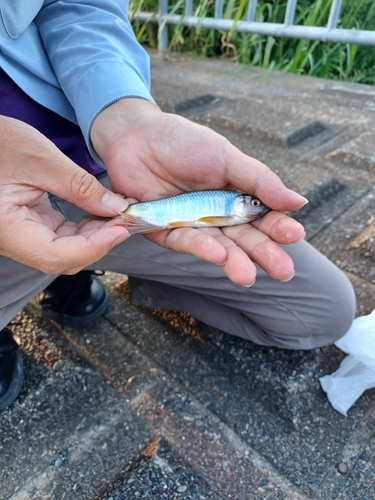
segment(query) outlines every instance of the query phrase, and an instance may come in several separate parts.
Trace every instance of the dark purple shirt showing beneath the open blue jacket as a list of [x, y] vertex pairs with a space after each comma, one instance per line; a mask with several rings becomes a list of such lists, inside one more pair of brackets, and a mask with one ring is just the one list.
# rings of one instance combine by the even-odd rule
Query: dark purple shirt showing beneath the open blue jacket
[[31, 99], [1, 68], [0, 115], [16, 118], [36, 128], [90, 174], [103, 172], [103, 168], [90, 156], [81, 129]]

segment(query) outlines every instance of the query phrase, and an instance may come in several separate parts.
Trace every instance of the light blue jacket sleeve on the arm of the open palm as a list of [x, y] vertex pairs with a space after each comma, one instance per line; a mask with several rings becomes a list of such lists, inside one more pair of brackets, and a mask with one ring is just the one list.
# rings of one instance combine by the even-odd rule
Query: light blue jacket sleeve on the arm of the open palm
[[135, 39], [127, 7], [127, 2], [116, 0], [46, 0], [35, 20], [97, 161], [90, 141], [95, 117], [121, 98], [153, 100], [149, 57]]

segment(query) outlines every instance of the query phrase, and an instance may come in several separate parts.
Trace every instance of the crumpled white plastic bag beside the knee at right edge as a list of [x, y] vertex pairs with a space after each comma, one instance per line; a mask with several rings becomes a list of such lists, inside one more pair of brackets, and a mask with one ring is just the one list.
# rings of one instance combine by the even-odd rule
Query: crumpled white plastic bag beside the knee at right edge
[[346, 415], [366, 389], [375, 387], [375, 309], [356, 318], [335, 345], [349, 356], [337, 371], [319, 380], [335, 410]]

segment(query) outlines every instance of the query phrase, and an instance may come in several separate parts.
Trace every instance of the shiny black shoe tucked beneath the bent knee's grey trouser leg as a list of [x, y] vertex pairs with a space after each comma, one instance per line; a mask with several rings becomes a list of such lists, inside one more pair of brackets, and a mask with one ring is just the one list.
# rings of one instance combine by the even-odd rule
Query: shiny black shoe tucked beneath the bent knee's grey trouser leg
[[43, 314], [62, 326], [81, 326], [106, 312], [108, 293], [96, 271], [81, 271], [56, 278], [37, 301]]

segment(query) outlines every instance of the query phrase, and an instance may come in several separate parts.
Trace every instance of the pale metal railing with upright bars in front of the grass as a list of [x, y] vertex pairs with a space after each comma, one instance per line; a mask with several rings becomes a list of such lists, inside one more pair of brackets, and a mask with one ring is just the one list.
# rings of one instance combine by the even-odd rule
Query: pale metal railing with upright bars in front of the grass
[[[193, 16], [193, 0], [185, 0], [183, 15], [168, 14], [168, 0], [159, 0], [159, 11], [136, 12], [133, 19], [159, 24], [159, 50], [168, 49], [168, 24], [183, 25], [220, 31], [256, 33], [258, 35], [282, 36], [322, 42], [355, 43], [375, 45], [375, 31], [337, 28], [342, 0], [333, 0], [327, 26], [300, 26], [293, 24], [298, 0], [288, 0], [284, 23], [257, 22], [256, 7], [258, 0], [249, 0], [246, 20], [223, 19], [224, 0], [215, 0], [215, 17]], [[355, 0], [354, 0], [355, 1]]]

